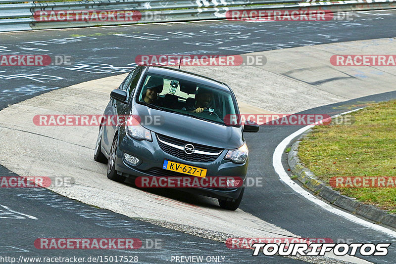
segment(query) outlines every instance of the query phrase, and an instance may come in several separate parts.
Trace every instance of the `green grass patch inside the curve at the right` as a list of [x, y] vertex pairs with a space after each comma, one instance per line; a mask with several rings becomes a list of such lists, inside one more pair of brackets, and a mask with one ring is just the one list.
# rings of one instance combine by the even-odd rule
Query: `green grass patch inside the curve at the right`
[[[396, 101], [351, 113], [351, 125], [316, 126], [300, 142], [300, 160], [321, 180], [333, 176], [396, 176]], [[396, 213], [396, 188], [335, 188]]]

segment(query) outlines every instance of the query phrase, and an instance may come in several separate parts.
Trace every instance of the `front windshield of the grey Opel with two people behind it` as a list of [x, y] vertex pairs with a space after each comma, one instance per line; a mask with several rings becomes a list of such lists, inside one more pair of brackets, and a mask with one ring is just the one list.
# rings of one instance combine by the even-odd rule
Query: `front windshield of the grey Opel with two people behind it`
[[227, 126], [230, 122], [226, 122], [226, 117], [237, 115], [231, 92], [153, 74], [145, 77], [137, 101], [152, 108]]

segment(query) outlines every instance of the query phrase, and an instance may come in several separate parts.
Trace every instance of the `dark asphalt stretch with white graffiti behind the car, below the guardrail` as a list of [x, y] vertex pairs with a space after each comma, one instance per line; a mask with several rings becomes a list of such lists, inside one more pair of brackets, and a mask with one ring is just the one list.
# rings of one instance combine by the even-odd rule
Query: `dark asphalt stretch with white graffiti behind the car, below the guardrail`
[[[396, 36], [396, 11], [352, 20], [207, 21], [0, 34], [0, 54], [49, 55], [70, 65], [0, 66], [0, 109], [51, 89], [126, 73], [142, 54], [232, 55]], [[57, 57], [56, 59], [55, 56]], [[66, 57], [64, 57], [66, 56]]]

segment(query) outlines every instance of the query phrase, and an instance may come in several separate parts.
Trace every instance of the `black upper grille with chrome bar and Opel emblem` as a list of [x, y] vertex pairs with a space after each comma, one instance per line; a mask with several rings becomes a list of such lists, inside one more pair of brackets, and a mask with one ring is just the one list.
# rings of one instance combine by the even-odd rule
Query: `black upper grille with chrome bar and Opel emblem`
[[[190, 142], [184, 141], [184, 140], [180, 140], [180, 139], [176, 139], [173, 137], [169, 137], [169, 136], [164, 136], [164, 135], [160, 135], [157, 134], [158, 138], [165, 141], [165, 142], [169, 142], [178, 146], [184, 146], [185, 144], [188, 144]], [[172, 146], [169, 146], [167, 144], [162, 143], [161, 141], [158, 140], [158, 144], [159, 147], [166, 153], [178, 157], [179, 159], [183, 159], [186, 161], [193, 161], [193, 162], [213, 162], [215, 161], [220, 154], [218, 155], [204, 155], [204, 154], [197, 154], [197, 153], [193, 153], [193, 154], [186, 154], [186, 152], [184, 152], [183, 150], [174, 148]], [[196, 150], [200, 150], [200, 151], [206, 151], [206, 152], [210, 152], [210, 153], [219, 153], [222, 151], [221, 148], [214, 148], [214, 147], [208, 147], [208, 146], [204, 146], [204, 145], [199, 145], [199, 144], [194, 144], [194, 147]]]

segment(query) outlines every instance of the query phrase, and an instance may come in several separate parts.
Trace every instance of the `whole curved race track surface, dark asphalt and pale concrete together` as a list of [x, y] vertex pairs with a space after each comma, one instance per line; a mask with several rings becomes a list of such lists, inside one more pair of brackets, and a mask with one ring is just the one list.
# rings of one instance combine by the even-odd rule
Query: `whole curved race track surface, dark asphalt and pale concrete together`
[[35, 239], [129, 236], [161, 241], [160, 247], [133, 252], [142, 263], [181, 255], [225, 256], [225, 263], [393, 263], [395, 245], [383, 257], [298, 259], [252, 257], [249, 250], [226, 247], [230, 237], [395, 241], [394, 230], [352, 217], [287, 179], [283, 151], [301, 126], [262, 126], [245, 134], [247, 176], [259, 178], [262, 186], [247, 187], [240, 209], [230, 212], [215, 199], [110, 181], [106, 166], [93, 160], [97, 127], [36, 126], [33, 117], [102, 114], [110, 91], [134, 68], [136, 56], [202, 53], [265, 56], [265, 65], [182, 66], [230, 85], [244, 114], [334, 116], [396, 98], [395, 67], [330, 63], [334, 54], [396, 54], [396, 29], [390, 27], [395, 22], [396, 11], [388, 10], [359, 12], [352, 21], [206, 21], [0, 34], [0, 54], [71, 60], [67, 66], [0, 67], [0, 176], [74, 179], [68, 188], [0, 188], [0, 249], [7, 255], [49, 256], [53, 253], [34, 247]]

